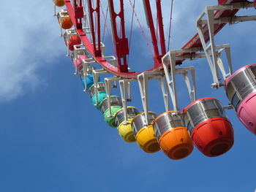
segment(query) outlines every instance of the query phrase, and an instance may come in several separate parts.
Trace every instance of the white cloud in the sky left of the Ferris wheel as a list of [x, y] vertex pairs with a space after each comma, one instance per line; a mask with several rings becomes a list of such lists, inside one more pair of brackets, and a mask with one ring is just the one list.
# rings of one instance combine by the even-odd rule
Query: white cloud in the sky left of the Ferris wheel
[[[6, 5], [4, 5], [6, 4]], [[1, 17], [0, 101], [15, 99], [24, 91], [37, 88], [39, 67], [54, 64], [61, 50], [58, 24], [52, 2], [3, 2]], [[57, 46], [56, 46], [57, 45]], [[50, 53], [50, 54], [49, 54]]]

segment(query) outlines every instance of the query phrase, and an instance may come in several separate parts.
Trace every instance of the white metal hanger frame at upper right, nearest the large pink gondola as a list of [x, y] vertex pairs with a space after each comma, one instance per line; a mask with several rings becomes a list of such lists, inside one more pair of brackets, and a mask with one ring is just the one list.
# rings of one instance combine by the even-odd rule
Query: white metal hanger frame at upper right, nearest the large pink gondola
[[[213, 88], [219, 88], [219, 86], [223, 85], [221, 80], [225, 80], [230, 74], [233, 73], [232, 63], [231, 63], [231, 55], [230, 55], [230, 46], [223, 45], [223, 47], [217, 47], [214, 42], [214, 24], [215, 23], [238, 23], [242, 21], [256, 20], [256, 15], [250, 16], [233, 16], [233, 17], [225, 17], [225, 18], [214, 18], [214, 12], [217, 10], [231, 10], [231, 9], [247, 9], [250, 7], [255, 7], [254, 2], [246, 1], [246, 2], [236, 2], [227, 5], [217, 5], [217, 6], [208, 6], [203, 12], [199, 15], [196, 21], [198, 35], [200, 37], [200, 42], [203, 47], [204, 54], [206, 55], [208, 65], [211, 69], [211, 74], [213, 75], [214, 83], [211, 85]], [[206, 17], [206, 20], [203, 18]], [[203, 27], [208, 26], [208, 34], [210, 41], [208, 45], [206, 45], [206, 39], [204, 39], [205, 30]], [[219, 49], [219, 50], [218, 50]], [[225, 67], [222, 63], [221, 52], [225, 50], [227, 56], [227, 64], [228, 64], [228, 72], [225, 71]], [[222, 73], [222, 78], [219, 77], [219, 70]]]

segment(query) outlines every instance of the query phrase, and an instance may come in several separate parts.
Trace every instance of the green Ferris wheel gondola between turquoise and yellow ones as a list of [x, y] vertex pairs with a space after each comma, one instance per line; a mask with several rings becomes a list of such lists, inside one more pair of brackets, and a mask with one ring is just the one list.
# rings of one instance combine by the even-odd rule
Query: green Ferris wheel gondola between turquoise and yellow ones
[[115, 114], [123, 107], [121, 98], [118, 96], [110, 96], [111, 113], [110, 109], [108, 108], [107, 98], [102, 101], [100, 106], [104, 116], [104, 120], [108, 123], [110, 127], [116, 127]]

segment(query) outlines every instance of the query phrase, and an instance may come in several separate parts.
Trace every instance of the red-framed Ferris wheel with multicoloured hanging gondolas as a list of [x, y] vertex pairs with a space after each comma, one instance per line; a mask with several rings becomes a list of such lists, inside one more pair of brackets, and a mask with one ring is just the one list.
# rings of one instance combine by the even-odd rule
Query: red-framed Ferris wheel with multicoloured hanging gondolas
[[[127, 0], [129, 7], [124, 7], [124, 0], [108, 0], [104, 7], [102, 2], [53, 0], [54, 14], [83, 91], [89, 92], [94, 107], [102, 111], [108, 126], [117, 128], [125, 142], [137, 142], [146, 153], [162, 150], [175, 160], [186, 158], [194, 145], [208, 157], [222, 155], [234, 142], [233, 126], [225, 113], [230, 109], [236, 110], [238, 119], [256, 134], [256, 64], [241, 66], [233, 72], [230, 45], [216, 45], [214, 41], [214, 35], [227, 23], [256, 20], [256, 15], [236, 16], [240, 9], [255, 8], [256, 0], [218, 0], [217, 5], [206, 7], [196, 20], [197, 34], [179, 50], [169, 50], [170, 30], [165, 38], [160, 0], [143, 0], [143, 7], [140, 7], [146, 15], [147, 31], [140, 25], [135, 1]], [[56, 7], [64, 8], [56, 12]], [[138, 64], [129, 62], [131, 36], [127, 35], [124, 9], [131, 10], [132, 25], [137, 21], [153, 58], [151, 67], [143, 72], [136, 72], [134, 68]], [[172, 12], [173, 0], [170, 1], [169, 26]], [[106, 47], [102, 39], [105, 33], [110, 35], [110, 30], [113, 47]], [[150, 41], [146, 33], [150, 34]], [[106, 55], [106, 50], [111, 48], [114, 55]], [[227, 58], [226, 64], [223, 55]], [[211, 87], [223, 86], [230, 104], [223, 106], [211, 96], [197, 99], [196, 68], [182, 66], [185, 60], [197, 58], [206, 58], [213, 78]], [[180, 74], [191, 100], [183, 110], [178, 107], [177, 96], [176, 76]], [[162, 90], [165, 111], [161, 115], [148, 110], [148, 82], [151, 80], [158, 80]], [[131, 83], [139, 85], [143, 112], [129, 105]], [[112, 89], [117, 87], [119, 96], [112, 95]]]

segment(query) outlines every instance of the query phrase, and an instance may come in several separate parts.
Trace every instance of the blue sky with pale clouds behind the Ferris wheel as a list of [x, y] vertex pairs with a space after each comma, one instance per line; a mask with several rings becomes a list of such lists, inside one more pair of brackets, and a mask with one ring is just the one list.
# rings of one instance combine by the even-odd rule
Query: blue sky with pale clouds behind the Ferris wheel
[[[255, 191], [255, 135], [233, 110], [227, 115], [235, 144], [224, 155], [208, 158], [195, 148], [189, 157], [172, 161], [162, 151], [144, 153], [108, 127], [82, 91], [58, 37], [52, 2], [2, 4], [0, 191]], [[214, 0], [175, 1], [172, 48], [195, 34], [195, 19], [203, 7], [214, 4]], [[255, 29], [254, 22], [238, 23], [217, 35], [217, 44], [230, 43], [235, 70], [255, 63]], [[140, 36], [135, 27], [130, 62], [138, 68], [152, 62], [148, 50], [140, 47], [145, 44]], [[213, 96], [228, 103], [222, 88], [210, 88], [205, 59], [184, 66], [196, 66], [198, 98]], [[149, 108], [160, 114], [164, 112], [160, 89], [154, 81], [149, 86]], [[184, 83], [179, 86], [182, 108], [189, 101]], [[132, 88], [131, 105], [142, 110], [138, 85]]]

